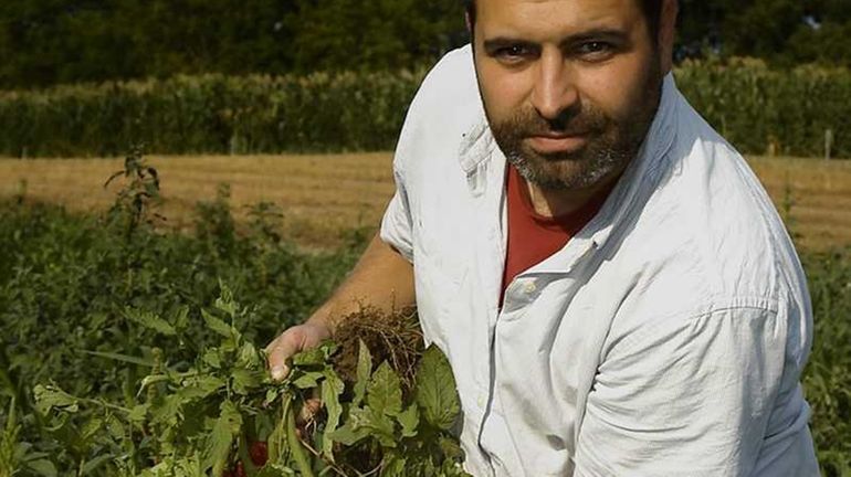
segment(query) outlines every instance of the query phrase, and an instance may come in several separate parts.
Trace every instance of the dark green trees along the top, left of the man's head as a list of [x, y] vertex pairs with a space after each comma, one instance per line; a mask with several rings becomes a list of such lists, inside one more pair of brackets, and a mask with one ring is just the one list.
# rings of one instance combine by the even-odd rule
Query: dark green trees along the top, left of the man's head
[[413, 68], [464, 39], [455, 0], [0, 3], [0, 87]]

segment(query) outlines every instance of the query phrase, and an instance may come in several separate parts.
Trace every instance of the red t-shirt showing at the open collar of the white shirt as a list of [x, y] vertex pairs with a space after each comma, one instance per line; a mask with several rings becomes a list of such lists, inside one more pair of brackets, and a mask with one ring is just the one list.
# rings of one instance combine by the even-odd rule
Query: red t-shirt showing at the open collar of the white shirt
[[[503, 272], [502, 306], [505, 289], [514, 277], [561, 250], [602, 208], [611, 188], [598, 193], [582, 208], [557, 218], [535, 212], [528, 187], [517, 169], [508, 165], [508, 251]], [[612, 186], [613, 187], [613, 186]]]

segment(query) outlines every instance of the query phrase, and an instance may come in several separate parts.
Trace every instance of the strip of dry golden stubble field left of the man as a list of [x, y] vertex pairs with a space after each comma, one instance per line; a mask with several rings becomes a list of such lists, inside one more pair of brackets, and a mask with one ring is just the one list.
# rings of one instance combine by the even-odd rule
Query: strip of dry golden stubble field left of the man
[[[189, 230], [198, 201], [213, 200], [230, 184], [238, 221], [248, 206], [274, 202], [284, 213], [284, 235], [300, 244], [333, 248], [353, 229], [375, 229], [393, 193], [391, 155], [149, 156], [161, 177], [161, 213], [172, 229]], [[103, 183], [120, 159], [0, 159], [0, 198], [28, 199], [92, 212], [108, 208], [119, 187]]]

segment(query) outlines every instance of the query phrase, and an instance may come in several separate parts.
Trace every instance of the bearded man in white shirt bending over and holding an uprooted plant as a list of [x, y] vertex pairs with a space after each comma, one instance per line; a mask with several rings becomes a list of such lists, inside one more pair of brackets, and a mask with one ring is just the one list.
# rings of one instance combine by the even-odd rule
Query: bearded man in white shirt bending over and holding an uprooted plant
[[742, 157], [676, 91], [676, 0], [477, 0], [424, 81], [397, 193], [347, 282], [416, 301], [476, 476], [813, 476], [811, 309]]

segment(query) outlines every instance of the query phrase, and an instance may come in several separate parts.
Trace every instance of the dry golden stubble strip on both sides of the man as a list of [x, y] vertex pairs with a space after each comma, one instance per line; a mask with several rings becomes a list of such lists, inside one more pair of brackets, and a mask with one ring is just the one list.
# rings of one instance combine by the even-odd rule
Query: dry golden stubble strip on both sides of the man
[[[166, 226], [187, 230], [197, 202], [214, 199], [227, 183], [238, 221], [249, 205], [273, 202], [284, 214], [286, 237], [327, 248], [353, 229], [375, 230], [393, 192], [391, 160], [387, 152], [149, 158], [161, 177]], [[748, 160], [801, 247], [851, 244], [851, 161]], [[103, 184], [122, 166], [120, 159], [0, 159], [0, 198], [23, 191], [74, 211], [104, 210], [117, 186]]]

